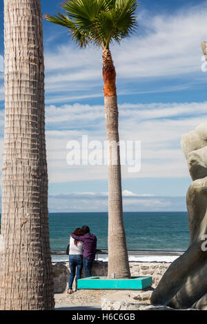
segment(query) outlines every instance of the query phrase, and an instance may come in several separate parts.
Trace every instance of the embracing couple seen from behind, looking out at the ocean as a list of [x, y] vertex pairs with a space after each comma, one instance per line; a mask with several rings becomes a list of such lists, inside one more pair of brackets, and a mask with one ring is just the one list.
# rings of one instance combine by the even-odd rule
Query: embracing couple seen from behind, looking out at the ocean
[[81, 279], [81, 271], [82, 267], [84, 267], [86, 277], [91, 276], [91, 267], [95, 260], [96, 250], [97, 237], [90, 233], [90, 228], [87, 225], [77, 228], [70, 234], [68, 294], [72, 294], [75, 272], [77, 272], [77, 279]]

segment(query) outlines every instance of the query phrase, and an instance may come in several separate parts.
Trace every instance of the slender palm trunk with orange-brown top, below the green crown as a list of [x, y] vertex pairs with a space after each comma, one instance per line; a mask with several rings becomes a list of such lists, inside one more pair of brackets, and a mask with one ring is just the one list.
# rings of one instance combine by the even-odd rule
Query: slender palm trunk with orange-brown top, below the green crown
[[108, 164], [108, 278], [129, 278], [130, 268], [123, 223], [116, 72], [110, 50], [103, 49], [103, 81]]

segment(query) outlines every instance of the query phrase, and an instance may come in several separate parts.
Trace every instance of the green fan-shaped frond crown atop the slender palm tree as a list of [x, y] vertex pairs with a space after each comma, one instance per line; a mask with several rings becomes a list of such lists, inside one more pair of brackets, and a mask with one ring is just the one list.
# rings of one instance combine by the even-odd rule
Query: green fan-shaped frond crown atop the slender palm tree
[[80, 47], [90, 43], [107, 47], [130, 36], [137, 28], [137, 0], [67, 0], [57, 12], [45, 19], [70, 30]]

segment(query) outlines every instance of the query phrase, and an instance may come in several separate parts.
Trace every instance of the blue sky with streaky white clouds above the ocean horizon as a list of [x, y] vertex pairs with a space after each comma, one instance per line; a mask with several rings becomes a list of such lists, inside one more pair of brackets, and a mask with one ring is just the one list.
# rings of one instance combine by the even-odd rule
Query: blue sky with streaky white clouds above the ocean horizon
[[[43, 0], [43, 14], [59, 0]], [[120, 139], [141, 141], [141, 171], [123, 167], [124, 210], [186, 210], [190, 185], [182, 134], [206, 117], [207, 1], [140, 1], [139, 30], [112, 46], [117, 70]], [[106, 165], [70, 166], [70, 140], [104, 141], [106, 130], [101, 50], [79, 50], [66, 28], [43, 21], [46, 65], [46, 136], [50, 211], [106, 211]], [[3, 1], [0, 4], [3, 56]], [[1, 62], [1, 61], [0, 61]], [[0, 73], [0, 150], [3, 152], [3, 73]]]

